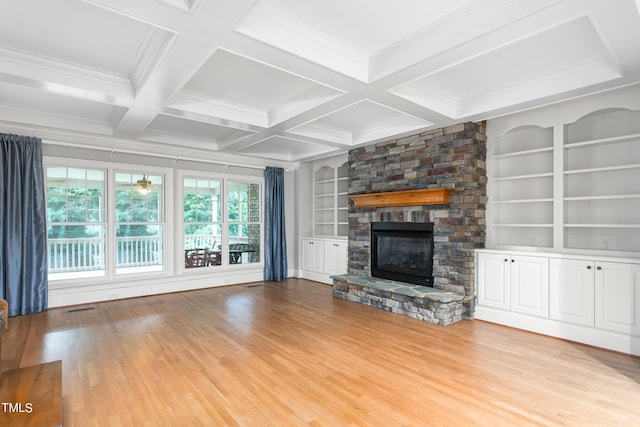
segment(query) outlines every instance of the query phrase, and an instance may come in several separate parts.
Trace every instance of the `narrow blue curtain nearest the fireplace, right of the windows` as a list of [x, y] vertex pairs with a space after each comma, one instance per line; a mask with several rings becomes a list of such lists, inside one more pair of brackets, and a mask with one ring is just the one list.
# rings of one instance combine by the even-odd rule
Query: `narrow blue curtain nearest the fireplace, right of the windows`
[[284, 221], [284, 169], [264, 171], [264, 280], [287, 277], [287, 239]]

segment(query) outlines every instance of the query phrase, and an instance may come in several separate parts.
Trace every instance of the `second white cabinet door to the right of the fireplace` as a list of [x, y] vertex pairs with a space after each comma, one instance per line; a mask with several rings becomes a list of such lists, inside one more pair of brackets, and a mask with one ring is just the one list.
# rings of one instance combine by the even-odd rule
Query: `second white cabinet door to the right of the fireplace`
[[511, 266], [511, 311], [531, 316], [549, 315], [549, 260], [514, 256]]

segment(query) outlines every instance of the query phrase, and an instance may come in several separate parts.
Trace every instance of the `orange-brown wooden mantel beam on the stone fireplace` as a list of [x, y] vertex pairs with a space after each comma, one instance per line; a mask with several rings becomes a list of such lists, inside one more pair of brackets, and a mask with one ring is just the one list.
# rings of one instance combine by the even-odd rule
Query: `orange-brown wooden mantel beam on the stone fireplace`
[[385, 193], [356, 194], [349, 196], [354, 208], [381, 208], [385, 206], [446, 205], [453, 188], [429, 188], [426, 190], [389, 191]]

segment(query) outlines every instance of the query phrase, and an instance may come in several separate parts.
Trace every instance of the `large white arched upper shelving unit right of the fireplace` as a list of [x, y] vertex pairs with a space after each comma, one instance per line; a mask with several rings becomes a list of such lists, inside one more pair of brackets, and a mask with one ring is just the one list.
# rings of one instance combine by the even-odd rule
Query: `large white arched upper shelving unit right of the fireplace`
[[640, 102], [607, 97], [490, 122], [487, 247], [640, 255]]

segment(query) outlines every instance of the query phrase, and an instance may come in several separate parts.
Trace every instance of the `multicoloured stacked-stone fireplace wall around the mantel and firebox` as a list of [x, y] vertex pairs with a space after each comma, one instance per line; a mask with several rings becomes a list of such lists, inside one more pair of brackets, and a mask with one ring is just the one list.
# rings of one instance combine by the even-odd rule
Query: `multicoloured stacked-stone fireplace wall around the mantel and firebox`
[[486, 124], [464, 123], [349, 152], [349, 194], [454, 188], [449, 205], [349, 206], [349, 274], [370, 275], [372, 222], [434, 223], [434, 288], [475, 311], [474, 249], [485, 243]]

